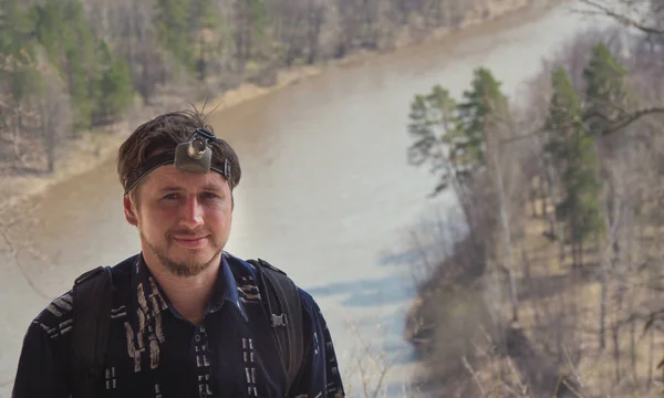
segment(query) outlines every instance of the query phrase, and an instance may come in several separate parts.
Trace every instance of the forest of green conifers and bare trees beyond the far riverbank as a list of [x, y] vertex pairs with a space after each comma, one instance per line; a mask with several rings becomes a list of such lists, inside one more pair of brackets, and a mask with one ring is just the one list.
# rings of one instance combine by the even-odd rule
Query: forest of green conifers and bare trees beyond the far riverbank
[[63, 138], [158, 103], [163, 87], [270, 85], [280, 69], [390, 49], [406, 31], [456, 29], [490, 3], [0, 0], [0, 161], [39, 153], [52, 170]]

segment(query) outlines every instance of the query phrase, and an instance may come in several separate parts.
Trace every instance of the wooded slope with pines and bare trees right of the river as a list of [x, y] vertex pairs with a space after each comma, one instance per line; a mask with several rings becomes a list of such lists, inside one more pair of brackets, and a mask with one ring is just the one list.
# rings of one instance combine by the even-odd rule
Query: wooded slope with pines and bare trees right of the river
[[622, 27], [550, 54], [523, 97], [486, 65], [412, 102], [412, 164], [459, 202], [406, 327], [445, 396], [662, 396], [664, 2], [583, 2]]

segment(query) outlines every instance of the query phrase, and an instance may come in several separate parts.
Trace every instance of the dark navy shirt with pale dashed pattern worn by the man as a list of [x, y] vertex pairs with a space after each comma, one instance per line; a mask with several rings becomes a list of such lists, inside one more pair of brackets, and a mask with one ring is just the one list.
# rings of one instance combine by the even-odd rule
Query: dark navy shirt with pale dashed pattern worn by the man
[[[115, 285], [98, 397], [343, 397], [334, 347], [314, 300], [300, 290], [304, 358], [290, 391], [253, 266], [224, 253], [199, 326], [169, 305], [141, 254], [112, 269]], [[13, 398], [69, 398], [71, 291], [32, 322]]]

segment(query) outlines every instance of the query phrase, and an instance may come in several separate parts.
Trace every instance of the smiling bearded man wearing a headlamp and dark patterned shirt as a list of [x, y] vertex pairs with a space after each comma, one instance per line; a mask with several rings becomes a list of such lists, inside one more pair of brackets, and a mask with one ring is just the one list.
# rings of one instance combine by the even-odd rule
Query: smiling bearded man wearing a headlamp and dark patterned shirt
[[[260, 283], [263, 266], [224, 251], [240, 165], [200, 114], [167, 113], [139, 126], [120, 148], [117, 172], [142, 251], [111, 269], [107, 343], [94, 392], [77, 392], [90, 375], [76, 370], [72, 353], [98, 354], [80, 353], [90, 338], [76, 322], [86, 322], [84, 308], [104, 313], [104, 305], [72, 290], [28, 328], [14, 398], [344, 396], [314, 300], [293, 290], [303, 349], [289, 378], [283, 356], [295, 345], [274, 337], [284, 318], [269, 314], [274, 293]], [[92, 334], [97, 323], [85, 325]]]

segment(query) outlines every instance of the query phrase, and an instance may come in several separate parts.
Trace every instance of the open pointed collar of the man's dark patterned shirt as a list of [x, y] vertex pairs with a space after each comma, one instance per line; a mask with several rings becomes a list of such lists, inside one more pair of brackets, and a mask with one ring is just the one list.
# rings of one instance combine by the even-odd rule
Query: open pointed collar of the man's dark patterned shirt
[[[132, 302], [136, 314], [136, 325], [138, 332], [143, 332], [153, 320], [160, 317], [159, 315], [169, 310], [174, 315], [177, 314], [174, 307], [169, 305], [168, 297], [162, 291], [157, 280], [154, 277], [147, 265], [143, 254], [137, 255], [132, 269]], [[225, 255], [221, 255], [221, 263], [212, 297], [208, 303], [205, 314], [217, 312], [221, 308], [225, 302], [228, 302], [236, 307], [245, 321], [249, 321], [245, 306], [238, 294], [238, 286]]]

